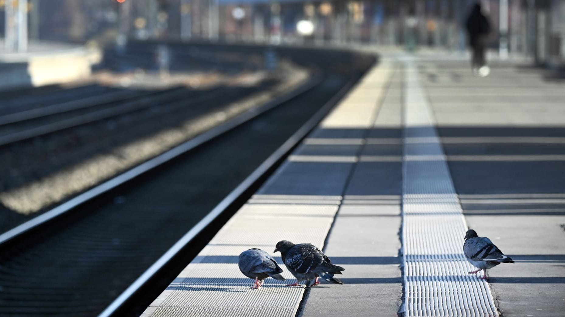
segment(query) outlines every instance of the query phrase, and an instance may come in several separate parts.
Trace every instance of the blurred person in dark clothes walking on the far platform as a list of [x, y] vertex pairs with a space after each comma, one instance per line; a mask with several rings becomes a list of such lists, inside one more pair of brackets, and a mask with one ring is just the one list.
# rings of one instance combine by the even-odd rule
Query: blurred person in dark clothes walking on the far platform
[[473, 10], [467, 17], [467, 33], [469, 44], [472, 48], [471, 66], [476, 76], [485, 77], [490, 73], [490, 68], [486, 65], [486, 43], [490, 33], [490, 23], [481, 10], [481, 4], [473, 6]]

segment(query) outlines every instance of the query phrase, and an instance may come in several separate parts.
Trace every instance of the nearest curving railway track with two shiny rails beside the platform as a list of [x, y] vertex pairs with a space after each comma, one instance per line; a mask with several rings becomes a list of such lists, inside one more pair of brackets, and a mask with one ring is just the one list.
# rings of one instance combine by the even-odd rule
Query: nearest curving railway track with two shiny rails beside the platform
[[301, 90], [0, 235], [0, 315], [145, 309], [371, 64], [347, 68], [357, 54], [306, 53], [280, 50], [326, 68]]

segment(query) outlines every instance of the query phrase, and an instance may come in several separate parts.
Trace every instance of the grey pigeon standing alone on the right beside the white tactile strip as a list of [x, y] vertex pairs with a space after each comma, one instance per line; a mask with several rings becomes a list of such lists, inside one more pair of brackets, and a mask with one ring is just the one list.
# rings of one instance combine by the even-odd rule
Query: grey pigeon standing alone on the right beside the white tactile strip
[[490, 241], [488, 237], [479, 237], [475, 230], [467, 230], [465, 234], [465, 244], [463, 244], [463, 253], [467, 257], [467, 261], [479, 270], [471, 271], [469, 274], [476, 274], [483, 270], [483, 277], [479, 279], [488, 280], [486, 270], [493, 268], [500, 263], [514, 263], [511, 258], [505, 256], [496, 245]]

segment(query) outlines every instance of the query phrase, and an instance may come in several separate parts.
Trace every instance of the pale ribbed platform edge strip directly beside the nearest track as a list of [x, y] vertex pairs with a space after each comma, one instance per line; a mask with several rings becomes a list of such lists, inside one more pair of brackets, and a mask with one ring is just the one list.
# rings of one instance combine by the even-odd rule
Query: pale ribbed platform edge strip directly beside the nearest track
[[[268, 279], [263, 288], [250, 289], [253, 281], [239, 272], [238, 255], [249, 248], [272, 253], [280, 240], [323, 248], [375, 121], [380, 105], [376, 100], [383, 95], [392, 73], [392, 68], [372, 69], [142, 316], [295, 316], [305, 288], [286, 287], [284, 284], [295, 279], [285, 270], [287, 281]], [[340, 139], [353, 135], [360, 142], [334, 144], [328, 135]], [[315, 144], [318, 139], [329, 144]], [[396, 214], [398, 222], [398, 209]], [[394, 245], [393, 256], [397, 250]], [[336, 255], [337, 265], [340, 259], [357, 261]], [[280, 257], [276, 259], [281, 263]], [[398, 268], [393, 271], [400, 289]]]

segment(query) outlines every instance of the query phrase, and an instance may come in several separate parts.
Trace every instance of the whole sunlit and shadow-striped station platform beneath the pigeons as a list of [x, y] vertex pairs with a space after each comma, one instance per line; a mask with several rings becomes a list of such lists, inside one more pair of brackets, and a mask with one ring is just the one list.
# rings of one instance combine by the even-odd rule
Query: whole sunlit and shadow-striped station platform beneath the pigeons
[[[562, 315], [564, 87], [386, 56], [142, 316]], [[468, 227], [516, 263], [468, 274]], [[279, 240], [323, 248], [345, 284], [286, 287], [281, 265], [286, 281], [251, 289], [238, 254]]]

